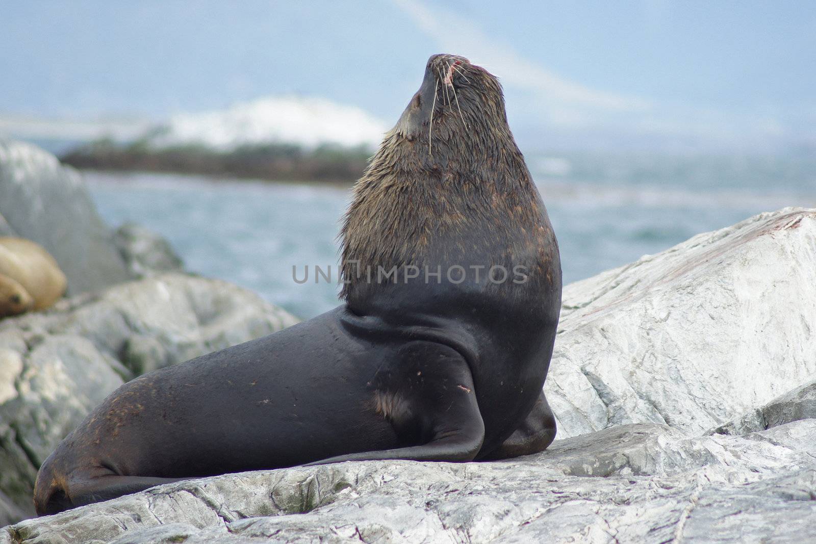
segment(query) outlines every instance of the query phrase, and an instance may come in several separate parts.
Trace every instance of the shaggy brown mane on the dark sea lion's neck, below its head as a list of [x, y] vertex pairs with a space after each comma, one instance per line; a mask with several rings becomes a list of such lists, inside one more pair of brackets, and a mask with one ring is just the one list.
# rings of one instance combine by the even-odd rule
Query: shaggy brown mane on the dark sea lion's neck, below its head
[[[397, 139], [388, 135], [354, 187], [342, 230], [341, 268], [349, 282], [342, 297], [366, 281], [357, 277], [361, 270], [419, 266], [440, 254], [490, 261], [468, 233], [489, 232], [508, 250], [517, 232], [539, 224], [540, 197], [512, 136], [508, 145], [472, 153], [452, 139], [435, 140], [429, 153], [427, 140]], [[421, 153], [415, 146], [423, 146]]]

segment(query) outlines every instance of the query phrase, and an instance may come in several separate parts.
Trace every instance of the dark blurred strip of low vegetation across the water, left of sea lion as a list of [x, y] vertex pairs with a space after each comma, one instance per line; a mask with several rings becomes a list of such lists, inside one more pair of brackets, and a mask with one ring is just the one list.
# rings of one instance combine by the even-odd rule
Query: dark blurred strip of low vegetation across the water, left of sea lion
[[100, 139], [65, 153], [60, 160], [90, 170], [351, 184], [362, 175], [371, 154], [366, 147], [344, 148], [335, 144], [313, 149], [297, 144], [251, 144], [220, 151], [202, 145], [157, 148], [149, 139], [131, 144]]

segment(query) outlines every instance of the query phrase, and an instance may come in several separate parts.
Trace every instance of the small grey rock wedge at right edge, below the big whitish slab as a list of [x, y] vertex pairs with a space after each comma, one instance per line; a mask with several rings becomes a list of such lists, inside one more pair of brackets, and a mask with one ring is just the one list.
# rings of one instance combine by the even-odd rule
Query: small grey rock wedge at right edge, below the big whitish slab
[[716, 427], [711, 432], [721, 435], [744, 435], [807, 418], [816, 418], [816, 382], [796, 387], [793, 391], [771, 400], [767, 405], [752, 409], [742, 417]]

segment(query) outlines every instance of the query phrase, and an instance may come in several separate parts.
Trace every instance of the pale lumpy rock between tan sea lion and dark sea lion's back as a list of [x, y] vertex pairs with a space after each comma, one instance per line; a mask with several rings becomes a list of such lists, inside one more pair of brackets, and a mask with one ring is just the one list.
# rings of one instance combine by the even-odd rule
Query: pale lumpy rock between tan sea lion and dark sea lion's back
[[33, 515], [38, 467], [113, 389], [295, 321], [235, 285], [181, 274], [0, 321], [0, 492]]

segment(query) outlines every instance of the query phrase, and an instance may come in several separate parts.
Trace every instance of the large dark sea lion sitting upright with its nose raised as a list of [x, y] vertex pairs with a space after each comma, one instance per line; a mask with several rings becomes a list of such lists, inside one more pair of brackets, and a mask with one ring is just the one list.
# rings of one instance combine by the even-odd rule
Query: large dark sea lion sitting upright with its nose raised
[[561, 264], [493, 75], [428, 60], [342, 237], [342, 305], [119, 387], [43, 464], [38, 513], [233, 471], [547, 447]]

